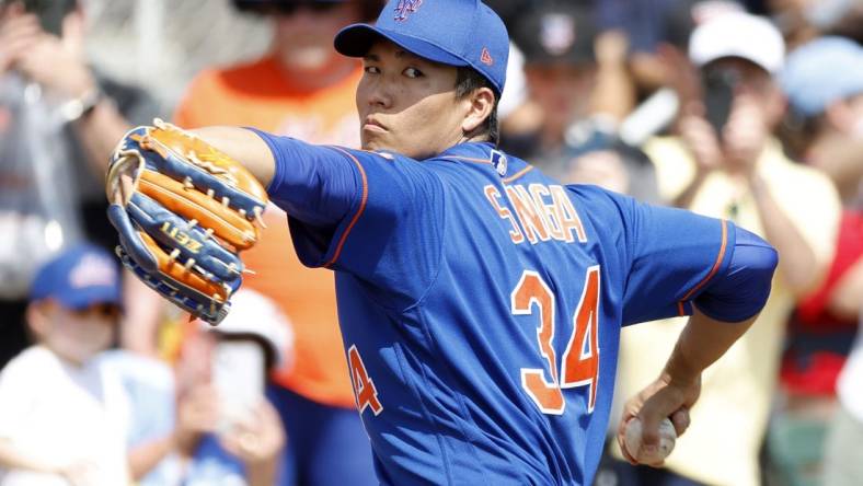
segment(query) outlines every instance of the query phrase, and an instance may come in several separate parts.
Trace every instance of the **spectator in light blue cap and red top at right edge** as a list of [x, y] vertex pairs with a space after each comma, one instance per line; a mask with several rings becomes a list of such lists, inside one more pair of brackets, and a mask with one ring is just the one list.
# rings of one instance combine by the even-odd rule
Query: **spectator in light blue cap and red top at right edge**
[[863, 48], [841, 37], [818, 38], [791, 54], [781, 81], [793, 114], [786, 126], [796, 128], [786, 139], [832, 178], [845, 206], [830, 271], [792, 320], [783, 381], [787, 392], [831, 400], [863, 300], [863, 270], [856, 269], [863, 257], [863, 146], [855, 132], [863, 126]]

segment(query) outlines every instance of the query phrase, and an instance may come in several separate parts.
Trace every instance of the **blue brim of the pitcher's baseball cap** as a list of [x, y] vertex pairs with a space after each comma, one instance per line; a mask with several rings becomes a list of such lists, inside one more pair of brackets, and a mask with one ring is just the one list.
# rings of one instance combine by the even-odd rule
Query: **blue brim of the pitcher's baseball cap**
[[345, 56], [364, 57], [368, 54], [371, 45], [380, 38], [386, 38], [423, 59], [448, 66], [470, 66], [464, 59], [419, 37], [378, 28], [369, 24], [348, 25], [336, 34], [333, 45], [335, 50]]

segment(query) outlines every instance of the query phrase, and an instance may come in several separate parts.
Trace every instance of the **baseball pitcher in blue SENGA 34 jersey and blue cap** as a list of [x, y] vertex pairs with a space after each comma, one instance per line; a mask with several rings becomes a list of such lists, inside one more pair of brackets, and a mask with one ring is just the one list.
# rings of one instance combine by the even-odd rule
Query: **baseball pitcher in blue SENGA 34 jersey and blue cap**
[[[508, 40], [477, 0], [391, 0], [375, 25], [335, 37], [336, 50], [363, 58], [365, 150], [193, 131], [267, 187], [306, 265], [335, 270], [383, 484], [590, 484], [621, 326], [691, 314], [621, 423], [644, 424], [631, 459], [656, 452], [660, 420], [683, 432], [701, 372], [770, 292], [775, 251], [733, 223], [563, 186], [496, 150]], [[120, 205], [111, 211], [130, 228]]]

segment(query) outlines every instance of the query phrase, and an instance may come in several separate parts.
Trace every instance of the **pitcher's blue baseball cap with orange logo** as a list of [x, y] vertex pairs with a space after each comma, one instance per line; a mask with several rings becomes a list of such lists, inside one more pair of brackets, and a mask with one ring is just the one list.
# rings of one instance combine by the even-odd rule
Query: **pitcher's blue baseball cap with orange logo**
[[363, 57], [381, 37], [424, 59], [471, 67], [498, 96], [504, 91], [509, 35], [480, 0], [389, 0], [375, 25], [348, 25], [334, 44], [345, 56]]

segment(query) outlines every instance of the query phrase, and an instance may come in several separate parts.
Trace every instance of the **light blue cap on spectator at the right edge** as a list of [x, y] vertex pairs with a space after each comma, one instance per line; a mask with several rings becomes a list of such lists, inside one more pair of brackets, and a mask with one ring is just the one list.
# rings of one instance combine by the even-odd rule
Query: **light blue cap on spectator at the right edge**
[[863, 47], [844, 37], [821, 37], [792, 51], [779, 77], [792, 107], [806, 116], [863, 93]]

